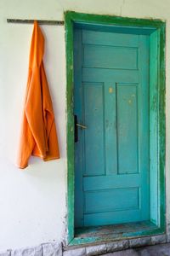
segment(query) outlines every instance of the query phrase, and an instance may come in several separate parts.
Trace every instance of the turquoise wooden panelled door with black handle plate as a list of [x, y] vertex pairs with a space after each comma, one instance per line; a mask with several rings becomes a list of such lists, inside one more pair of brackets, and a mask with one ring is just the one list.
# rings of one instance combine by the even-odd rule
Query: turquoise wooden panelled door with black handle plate
[[148, 36], [75, 29], [74, 113], [76, 227], [150, 219]]

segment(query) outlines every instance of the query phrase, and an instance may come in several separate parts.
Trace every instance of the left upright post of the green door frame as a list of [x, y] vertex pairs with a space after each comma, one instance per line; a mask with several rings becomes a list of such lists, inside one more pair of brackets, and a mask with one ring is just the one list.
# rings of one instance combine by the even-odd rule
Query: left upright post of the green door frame
[[73, 27], [65, 15], [66, 102], [67, 102], [67, 209], [68, 241], [74, 238], [74, 118], [73, 118]]

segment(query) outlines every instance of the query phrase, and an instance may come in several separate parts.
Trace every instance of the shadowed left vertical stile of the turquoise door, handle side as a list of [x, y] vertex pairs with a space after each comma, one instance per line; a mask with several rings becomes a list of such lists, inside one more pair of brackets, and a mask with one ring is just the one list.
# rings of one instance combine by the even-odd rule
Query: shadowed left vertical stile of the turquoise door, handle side
[[[74, 102], [74, 114], [77, 117], [82, 116], [82, 30], [74, 30], [74, 58], [77, 60], [77, 66], [74, 68], [74, 96], [77, 97], [77, 102]], [[77, 75], [76, 75], [77, 74]], [[77, 119], [78, 123], [82, 123], [82, 119]], [[80, 136], [82, 133], [82, 136]], [[84, 165], [84, 160], [82, 157], [83, 148], [82, 148], [82, 140], [84, 134], [82, 129], [77, 128], [77, 137], [79, 137], [76, 147], [75, 147], [75, 225], [83, 225], [83, 191], [82, 191], [82, 175], [79, 171], [82, 170], [82, 166]], [[81, 200], [79, 200], [81, 199]], [[77, 203], [78, 201], [78, 203]]]

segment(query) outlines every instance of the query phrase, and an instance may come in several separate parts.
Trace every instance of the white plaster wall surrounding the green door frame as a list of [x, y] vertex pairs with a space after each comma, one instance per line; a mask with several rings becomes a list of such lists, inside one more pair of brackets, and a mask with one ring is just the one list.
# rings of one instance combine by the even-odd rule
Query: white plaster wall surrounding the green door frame
[[60, 160], [31, 158], [14, 166], [26, 92], [31, 25], [7, 18], [63, 20], [64, 10], [167, 20], [167, 222], [170, 222], [170, 2], [168, 0], [0, 0], [0, 250], [27, 247], [65, 237], [65, 29], [42, 26], [44, 63], [54, 102]]

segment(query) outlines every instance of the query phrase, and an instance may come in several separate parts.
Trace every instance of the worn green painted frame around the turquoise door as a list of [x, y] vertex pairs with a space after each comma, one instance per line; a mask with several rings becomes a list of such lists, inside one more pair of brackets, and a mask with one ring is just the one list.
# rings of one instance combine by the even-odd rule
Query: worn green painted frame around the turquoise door
[[[109, 15], [89, 15], [72, 11], [65, 13], [66, 44], [66, 102], [67, 102], [67, 244], [77, 245], [105, 241], [102, 237], [75, 237], [74, 229], [74, 24], [133, 27], [150, 35], [150, 222], [155, 230], [129, 233], [132, 236], [151, 236], [166, 231], [165, 201], [165, 31], [162, 20], [123, 18]], [[112, 239], [112, 238], [111, 238]], [[110, 238], [107, 240], [111, 240]]]

